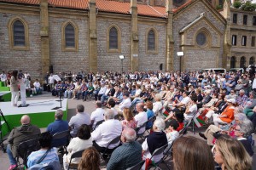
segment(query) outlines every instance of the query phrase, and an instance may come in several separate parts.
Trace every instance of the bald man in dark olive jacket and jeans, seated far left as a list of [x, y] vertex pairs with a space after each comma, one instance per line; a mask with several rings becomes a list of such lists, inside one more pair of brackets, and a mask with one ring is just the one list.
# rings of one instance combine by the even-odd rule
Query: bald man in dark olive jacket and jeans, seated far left
[[15, 127], [9, 134], [8, 145], [6, 152], [9, 156], [11, 166], [9, 169], [14, 169], [17, 166], [15, 156], [17, 156], [17, 148], [21, 142], [39, 137], [40, 129], [30, 123], [30, 117], [24, 115], [20, 119], [21, 126]]

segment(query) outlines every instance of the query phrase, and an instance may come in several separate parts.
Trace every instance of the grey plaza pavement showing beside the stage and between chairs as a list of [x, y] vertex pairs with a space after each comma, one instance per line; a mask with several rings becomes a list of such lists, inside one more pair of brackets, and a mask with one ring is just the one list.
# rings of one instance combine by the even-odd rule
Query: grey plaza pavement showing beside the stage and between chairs
[[[27, 98], [27, 100], [35, 100], [35, 99], [57, 99], [55, 97], [53, 97], [51, 95], [51, 93], [46, 93], [44, 92], [44, 94], [38, 95], [38, 96], [33, 96], [30, 98]], [[82, 101], [77, 100], [77, 99], [68, 99], [68, 111], [67, 111], [67, 121], [70, 120], [70, 118], [72, 116], [74, 116], [76, 114], [76, 106], [82, 104], [84, 105], [84, 110], [85, 112], [91, 114], [92, 111], [95, 111], [95, 100], [94, 99], [87, 99], [87, 101]], [[54, 117], [53, 117], [53, 121], [54, 121]], [[41, 128], [41, 132], [45, 132], [46, 128]], [[191, 132], [191, 129], [189, 129], [188, 133], [186, 135], [191, 135], [191, 136], [195, 136], [196, 138], [201, 139], [201, 137], [199, 137], [198, 133], [199, 132], [203, 132], [204, 128], [195, 128], [195, 134], [193, 132]], [[6, 139], [8, 136], [4, 137], [4, 139]], [[256, 140], [256, 135], [253, 134], [253, 139]], [[143, 141], [139, 141], [140, 143], [143, 143]], [[6, 141], [4, 142], [4, 144], [7, 144]], [[255, 150], [255, 147], [254, 147]], [[62, 158], [61, 155], [59, 155], [60, 157], [60, 161], [61, 161], [61, 165], [62, 165]], [[256, 169], [256, 153], [254, 153], [253, 155], [253, 169]], [[22, 162], [22, 161], [21, 161]], [[166, 162], [168, 164], [169, 167], [171, 167], [172, 169], [172, 160], [170, 159], [170, 157], [167, 157]], [[0, 170], [8, 170], [9, 168], [9, 159], [6, 153], [3, 153], [2, 150], [0, 150]], [[167, 169], [165, 165], [160, 164], [160, 168], [165, 170]], [[63, 168], [62, 168], [63, 169]], [[104, 161], [101, 161], [101, 169], [106, 169], [106, 163]], [[154, 168], [153, 168], [154, 169]]]

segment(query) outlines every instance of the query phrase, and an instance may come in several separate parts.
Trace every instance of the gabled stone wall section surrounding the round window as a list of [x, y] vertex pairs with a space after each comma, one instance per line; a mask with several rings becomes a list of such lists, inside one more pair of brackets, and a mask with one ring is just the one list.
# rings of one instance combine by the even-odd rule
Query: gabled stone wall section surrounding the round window
[[[180, 47], [181, 44], [181, 36], [179, 34], [179, 31], [181, 31], [183, 29], [183, 27], [188, 26], [189, 23], [193, 22], [196, 18], [198, 18], [200, 16], [201, 13], [206, 13], [206, 17], [208, 20], [210, 20], [210, 22], [212, 23], [213, 26], [217, 27], [218, 30], [222, 33], [221, 37], [219, 38], [219, 42], [218, 42], [218, 46], [219, 46], [219, 52], [217, 53], [218, 56], [218, 65], [219, 67], [222, 67], [222, 57], [223, 57], [223, 45], [224, 45], [224, 23], [221, 22], [220, 19], [218, 19], [218, 17], [216, 17], [215, 14], [212, 13], [211, 10], [209, 10], [209, 8], [207, 8], [207, 6], [202, 3], [201, 1], [196, 2], [195, 4], [192, 4], [191, 6], [189, 6], [189, 8], [186, 8], [185, 10], [183, 10], [182, 13], [180, 14], [174, 14], [173, 17], [173, 40], [174, 40], [174, 70], [179, 70], [179, 57], [177, 57], [177, 52], [181, 51], [182, 48]], [[199, 26], [196, 28], [195, 32], [190, 32], [189, 35], [187, 35], [187, 39], [189, 41], [194, 40], [195, 41], [195, 34], [197, 33], [197, 30], [199, 30], [200, 28], [203, 28], [205, 26]], [[208, 30], [211, 35], [212, 35], [212, 43], [216, 44], [216, 42], [214, 42], [214, 37], [216, 37], [216, 31], [213, 31], [212, 28]], [[195, 44], [195, 43], [194, 43]], [[189, 63], [194, 62], [194, 60], [200, 59], [198, 60], [199, 62], [204, 63], [205, 61], [207, 61], [207, 57], [204, 57], [203, 54], [212, 54], [211, 51], [213, 50], [212, 48], [198, 48], [196, 46], [192, 46], [189, 47], [189, 49], [193, 49], [193, 50], [197, 50], [200, 49], [201, 53], [189, 53], [188, 59], [185, 59], [186, 62], [188, 63], [188, 65], [190, 65]], [[215, 50], [215, 49], [214, 49]], [[185, 57], [187, 56], [187, 54], [184, 54]], [[193, 65], [191, 65], [193, 66]], [[208, 63], [207, 67], [216, 67], [215, 63], [213, 65]], [[188, 68], [189, 70], [192, 69], [198, 69], [201, 70], [201, 65], [200, 67], [191, 67]], [[186, 70], [187, 68], [183, 68], [184, 70]]]

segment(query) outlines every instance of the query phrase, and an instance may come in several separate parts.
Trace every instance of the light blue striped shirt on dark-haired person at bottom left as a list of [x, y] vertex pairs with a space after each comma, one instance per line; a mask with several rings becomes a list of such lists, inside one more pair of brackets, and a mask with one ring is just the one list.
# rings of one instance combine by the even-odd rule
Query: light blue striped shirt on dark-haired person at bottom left
[[[32, 167], [33, 165], [36, 165], [38, 160], [42, 156], [44, 156], [44, 153], [47, 150], [38, 150], [38, 151], [33, 151], [28, 157], [27, 157], [27, 167]], [[50, 161], [59, 161], [59, 157], [57, 154], [57, 149], [52, 148], [49, 150], [47, 155], [44, 157], [44, 160], [41, 161], [40, 164], [48, 164]]]

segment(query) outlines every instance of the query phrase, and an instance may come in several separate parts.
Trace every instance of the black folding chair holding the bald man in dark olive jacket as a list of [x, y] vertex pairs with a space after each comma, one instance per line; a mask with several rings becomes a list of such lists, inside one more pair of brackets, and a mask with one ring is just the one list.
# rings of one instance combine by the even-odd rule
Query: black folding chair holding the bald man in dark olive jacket
[[[24, 142], [21, 142], [18, 145], [18, 148], [17, 148], [18, 156], [16, 157], [16, 161], [18, 162], [18, 167], [20, 168], [20, 170], [22, 169], [21, 165], [23, 165], [24, 167], [27, 167], [26, 166], [27, 157], [32, 153], [32, 151], [37, 151], [37, 150], [40, 150], [38, 139], [29, 139]], [[19, 158], [23, 160], [22, 164], [20, 164]]]

